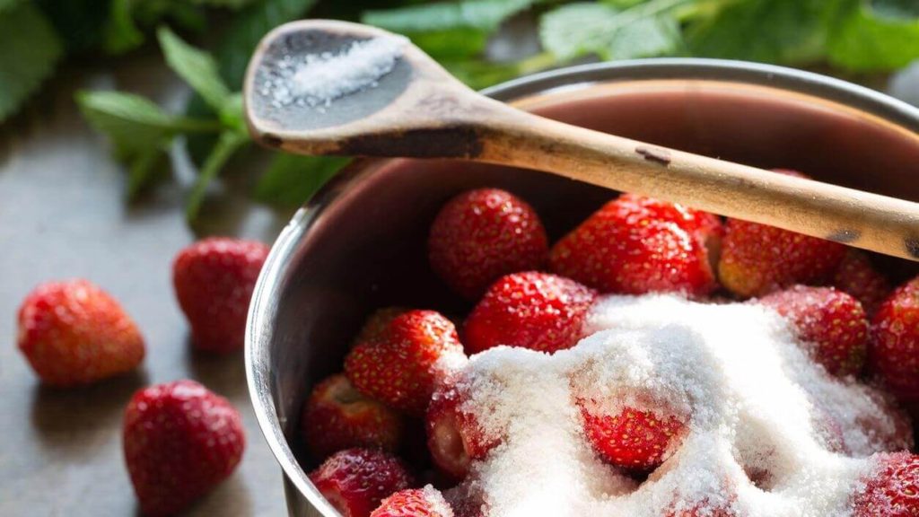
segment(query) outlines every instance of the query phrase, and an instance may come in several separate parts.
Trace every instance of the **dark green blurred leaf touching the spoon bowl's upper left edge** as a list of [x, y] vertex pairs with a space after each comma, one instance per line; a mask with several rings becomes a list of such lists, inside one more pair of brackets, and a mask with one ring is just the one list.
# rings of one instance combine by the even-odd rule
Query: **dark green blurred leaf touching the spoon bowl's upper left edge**
[[305, 15], [315, 4], [316, 0], [260, 0], [233, 17], [214, 51], [226, 84], [241, 89], [258, 41], [278, 25]]

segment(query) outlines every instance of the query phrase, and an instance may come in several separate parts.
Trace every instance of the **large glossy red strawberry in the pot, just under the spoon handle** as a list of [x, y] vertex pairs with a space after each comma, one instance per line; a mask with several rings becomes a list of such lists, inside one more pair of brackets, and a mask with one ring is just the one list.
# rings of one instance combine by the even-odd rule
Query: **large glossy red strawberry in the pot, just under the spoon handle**
[[[702, 223], [706, 217], [636, 200], [641, 198], [610, 201], [562, 237], [550, 251], [551, 269], [604, 293], [713, 291], [717, 284], [700, 238], [713, 231]], [[689, 215], [675, 216], [684, 211]]]

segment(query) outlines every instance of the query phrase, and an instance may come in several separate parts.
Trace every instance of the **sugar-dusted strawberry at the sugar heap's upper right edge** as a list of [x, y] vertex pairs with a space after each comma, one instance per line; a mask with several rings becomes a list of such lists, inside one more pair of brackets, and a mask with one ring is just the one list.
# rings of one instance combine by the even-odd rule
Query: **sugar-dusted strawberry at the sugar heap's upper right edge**
[[865, 364], [868, 318], [851, 295], [832, 287], [796, 285], [759, 300], [785, 316], [814, 361], [834, 375], [857, 375]]

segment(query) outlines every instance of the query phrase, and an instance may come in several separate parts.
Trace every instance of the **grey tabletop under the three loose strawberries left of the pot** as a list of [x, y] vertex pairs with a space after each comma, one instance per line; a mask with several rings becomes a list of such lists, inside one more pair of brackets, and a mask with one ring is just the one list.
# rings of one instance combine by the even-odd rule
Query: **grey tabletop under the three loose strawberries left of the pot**
[[[71, 101], [76, 87], [118, 86], [178, 109], [187, 92], [160, 61], [120, 63], [117, 75], [67, 73], [0, 137], [0, 515], [139, 513], [121, 454], [122, 412], [142, 385], [179, 378], [227, 396], [243, 413], [248, 442], [233, 477], [188, 514], [285, 514], [280, 469], [255, 423], [242, 353], [204, 356], [187, 345], [170, 264], [196, 238], [182, 212], [181, 185], [191, 172], [176, 158], [176, 181], [129, 205], [124, 172]], [[231, 189], [211, 197], [197, 229], [270, 243], [286, 218]], [[16, 348], [18, 305], [41, 281], [72, 277], [101, 285], [138, 322], [147, 358], [137, 373], [68, 391], [42, 387], [33, 375]]]

